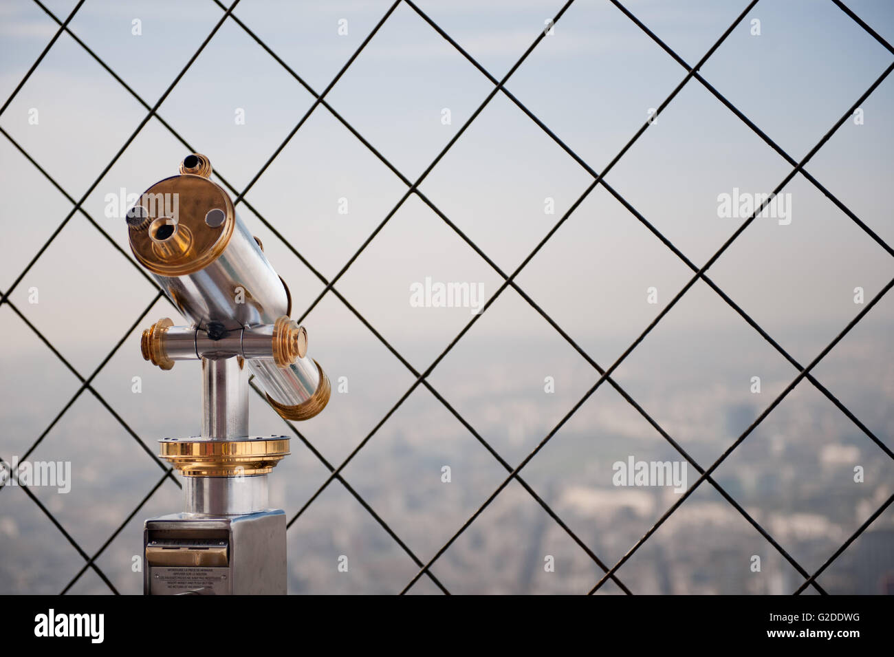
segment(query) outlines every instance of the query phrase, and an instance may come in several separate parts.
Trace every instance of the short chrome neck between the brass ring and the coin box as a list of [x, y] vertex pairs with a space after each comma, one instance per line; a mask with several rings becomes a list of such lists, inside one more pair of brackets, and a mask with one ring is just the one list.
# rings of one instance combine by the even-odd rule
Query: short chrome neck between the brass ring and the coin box
[[267, 508], [267, 476], [184, 476], [184, 510], [201, 516], [238, 516]]

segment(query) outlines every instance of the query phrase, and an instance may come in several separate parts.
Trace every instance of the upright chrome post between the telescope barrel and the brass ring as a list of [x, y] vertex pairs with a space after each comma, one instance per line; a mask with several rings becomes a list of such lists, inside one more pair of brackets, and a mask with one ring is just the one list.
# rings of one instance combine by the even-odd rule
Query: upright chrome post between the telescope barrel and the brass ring
[[202, 437], [249, 435], [249, 373], [239, 358], [202, 358]]

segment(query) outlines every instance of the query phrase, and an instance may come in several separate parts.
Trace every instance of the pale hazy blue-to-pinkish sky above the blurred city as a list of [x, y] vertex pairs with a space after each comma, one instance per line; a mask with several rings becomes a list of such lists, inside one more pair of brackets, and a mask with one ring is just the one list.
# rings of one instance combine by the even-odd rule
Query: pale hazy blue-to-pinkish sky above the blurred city
[[[658, 2], [631, 2], [629, 8], [687, 62], [695, 63], [744, 3], [684, 4], [685, 12]], [[58, 13], [67, 7], [52, 5]], [[419, 5], [498, 78], [533, 41], [544, 17], [561, 6]], [[507, 12], [510, 5], [512, 12]], [[806, 5], [810, 21], [802, 19]], [[246, 0], [236, 15], [321, 91], [387, 6]], [[854, 9], [890, 36], [890, 4], [855, 3]], [[54, 26], [36, 4], [25, 0], [4, 3], [3, 12], [0, 85], [5, 95]], [[211, 2], [184, 7], [91, 1], [72, 21], [72, 30], [153, 105], [220, 14]], [[750, 34], [752, 18], [761, 21], [760, 36]], [[338, 34], [341, 19], [348, 21], [347, 36]], [[141, 21], [141, 36], [131, 34], [133, 20]], [[831, 3], [763, 0], [703, 71], [797, 159], [892, 59]], [[644, 122], [648, 108], [659, 105], [684, 75], [683, 68], [617, 8], [602, 0], [581, 0], [572, 4], [555, 33], [544, 38], [506, 87], [598, 171]], [[892, 85], [894, 81], [886, 80], [864, 103], [864, 124], [845, 123], [807, 167], [888, 241], [894, 240], [894, 228], [878, 190], [891, 173], [894, 145], [887, 108]], [[415, 180], [491, 88], [484, 75], [409, 5], [401, 4], [328, 100], [401, 173]], [[158, 114], [242, 190], [311, 102], [307, 90], [235, 22], [226, 21]], [[38, 110], [38, 125], [29, 123], [31, 108]], [[442, 123], [444, 108], [451, 111], [450, 125]], [[236, 122], [238, 109], [244, 110], [244, 124]], [[80, 198], [145, 114], [63, 35], [0, 116], [0, 125], [63, 189]], [[185, 152], [164, 126], [148, 122], [89, 195], [85, 210], [128, 250], [120, 218], [105, 216], [105, 195], [122, 187], [139, 193], [174, 173]], [[9, 245], [8, 257], [0, 264], [0, 288], [5, 289], [71, 204], [5, 139], [0, 140], [0, 153], [3, 184], [11, 198], [2, 213]], [[769, 192], [789, 169], [690, 80], [606, 180], [701, 265], [742, 221], [717, 216], [718, 195], [733, 188]], [[589, 181], [584, 169], [498, 94], [420, 189], [509, 273]], [[312, 265], [332, 277], [405, 190], [332, 114], [317, 107], [247, 198]], [[871, 298], [894, 274], [894, 263], [805, 179], [797, 177], [785, 191], [792, 194], [791, 223], [755, 222], [709, 274], [770, 333], [815, 324], [834, 329], [858, 310], [853, 289], [861, 286]], [[348, 200], [347, 215], [339, 214], [340, 198]], [[554, 215], [544, 213], [545, 198], [554, 199]], [[248, 208], [243, 206], [240, 213], [290, 282], [296, 315], [303, 312], [322, 283]], [[668, 248], [598, 187], [519, 274], [518, 282], [578, 340], [621, 334], [621, 348], [689, 275]], [[425, 203], [411, 197], [337, 286], [386, 337], [398, 344], [407, 341], [408, 350], [410, 338], [429, 336], [432, 349], [414, 354], [420, 366], [469, 319], [468, 309], [410, 307], [409, 285], [426, 276], [441, 282], [481, 282], [487, 297], [502, 281]], [[33, 306], [28, 303], [32, 286], [40, 295]], [[656, 305], [646, 302], [651, 286], [658, 291]], [[77, 360], [80, 353], [98, 354], [119, 338], [151, 296], [148, 282], [79, 214], [12, 298]], [[720, 299], [705, 295], [704, 303], [680, 307], [677, 319], [684, 325], [740, 321], [725, 311], [715, 312], [717, 303]], [[57, 321], [84, 313], [105, 321], [89, 334]], [[501, 319], [493, 325], [497, 334], [551, 331], [542, 321], [519, 325], [520, 317], [509, 311]], [[308, 328], [312, 336], [315, 329], [341, 329], [320, 313], [308, 319]]]

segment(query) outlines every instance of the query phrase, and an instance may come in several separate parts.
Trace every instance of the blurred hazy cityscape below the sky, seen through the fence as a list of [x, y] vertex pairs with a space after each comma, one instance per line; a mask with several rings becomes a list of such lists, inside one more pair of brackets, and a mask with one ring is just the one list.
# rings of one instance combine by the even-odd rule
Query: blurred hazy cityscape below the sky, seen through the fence
[[[870, 329], [848, 336], [814, 372], [890, 445], [894, 411], [887, 400], [894, 393], [894, 371], [884, 358], [873, 358], [890, 354], [889, 335], [873, 335]], [[619, 367], [616, 381], [691, 458], [708, 467], [797, 374], [766, 349], [735, 349], [731, 341], [747, 344], [745, 338], [744, 331], [662, 334], [645, 341], [642, 352], [637, 350]], [[197, 425], [198, 368], [181, 364], [156, 376], [142, 367], [135, 344], [131, 336], [98, 377], [97, 389], [155, 449], [156, 438], [176, 434], [170, 427], [185, 435]], [[350, 387], [333, 393], [331, 407], [299, 428], [337, 465], [411, 381], [373, 343], [345, 343], [338, 350], [327, 346], [317, 351], [317, 358], [330, 366], [333, 387], [340, 376], [347, 377]], [[14, 371], [22, 394], [58, 383], [48, 369], [28, 362]], [[146, 375], [141, 394], [131, 392], [132, 372]], [[758, 394], [751, 392], [752, 375], [762, 377]], [[547, 376], [553, 377], [555, 392], [544, 392]], [[435, 390], [511, 467], [596, 379], [595, 371], [559, 339], [501, 344], [479, 341], [475, 333], [431, 376]], [[156, 384], [164, 387], [155, 389]], [[6, 385], [5, 392], [14, 395]], [[61, 399], [55, 401], [63, 403]], [[163, 474], [97, 407], [89, 393], [81, 395], [31, 456], [72, 460], [71, 493], [32, 490], [90, 554]], [[6, 426], [25, 445], [47, 416], [35, 414], [34, 404], [12, 410], [16, 417]], [[252, 413], [256, 433], [287, 428], [259, 399], [253, 398]], [[671, 487], [614, 486], [612, 464], [629, 456], [682, 459], [636, 409], [603, 384], [520, 473], [609, 566], [678, 498]], [[443, 482], [444, 466], [450, 467], [450, 483]], [[855, 482], [857, 466], [864, 468], [863, 483]], [[271, 477], [272, 502], [293, 517], [327, 474], [293, 437], [291, 456]], [[502, 484], [506, 470], [431, 393], [417, 388], [342, 474], [426, 562]], [[810, 383], [802, 382], [721, 464], [714, 480], [812, 574], [894, 491], [892, 474], [894, 464], [879, 447]], [[696, 478], [695, 468], [687, 467], [687, 484]], [[0, 492], [0, 505], [0, 592], [61, 591], [84, 560], [21, 489]], [[180, 491], [165, 482], [99, 556], [97, 565], [119, 591], [140, 592], [140, 574], [131, 563], [139, 554], [141, 521], [180, 505]], [[288, 537], [293, 594], [396, 593], [418, 570], [337, 481], [301, 513]], [[343, 557], [347, 572], [338, 568]], [[603, 575], [517, 482], [503, 489], [431, 572], [451, 593], [460, 594], [586, 593]], [[706, 483], [617, 574], [637, 594], [790, 594], [804, 581]], [[881, 594], [891, 593], [892, 577], [894, 513], [889, 509], [817, 581], [830, 593]], [[437, 592], [427, 577], [410, 589], [414, 594]], [[617, 594], [620, 588], [609, 581], [599, 592]], [[88, 570], [70, 593], [109, 590]]]

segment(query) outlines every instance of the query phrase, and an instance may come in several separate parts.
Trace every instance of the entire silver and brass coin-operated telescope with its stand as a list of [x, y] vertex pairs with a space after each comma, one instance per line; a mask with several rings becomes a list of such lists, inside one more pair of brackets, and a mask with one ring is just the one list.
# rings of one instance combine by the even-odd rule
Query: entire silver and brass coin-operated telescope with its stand
[[267, 508], [267, 475], [289, 438], [249, 435], [249, 372], [290, 420], [325, 408], [329, 379], [289, 318], [289, 288], [210, 175], [206, 156], [187, 156], [127, 215], [133, 255], [192, 323], [152, 324], [143, 358], [164, 370], [202, 365], [201, 434], [160, 441], [185, 501], [145, 523], [144, 592], [285, 594], [285, 513]]

